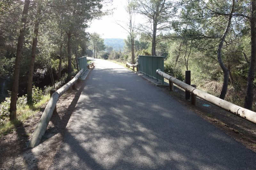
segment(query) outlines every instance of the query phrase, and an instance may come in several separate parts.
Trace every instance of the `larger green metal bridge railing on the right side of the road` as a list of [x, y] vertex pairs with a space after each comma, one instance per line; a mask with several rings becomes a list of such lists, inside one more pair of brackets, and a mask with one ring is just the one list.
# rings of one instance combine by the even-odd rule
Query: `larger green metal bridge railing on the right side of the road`
[[147, 76], [156, 78], [156, 80], [164, 83], [164, 78], [156, 74], [157, 69], [164, 71], [164, 57], [162, 56], [148, 56], [139, 55], [139, 71]]

